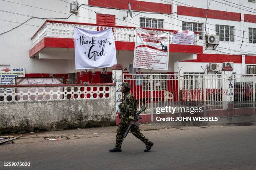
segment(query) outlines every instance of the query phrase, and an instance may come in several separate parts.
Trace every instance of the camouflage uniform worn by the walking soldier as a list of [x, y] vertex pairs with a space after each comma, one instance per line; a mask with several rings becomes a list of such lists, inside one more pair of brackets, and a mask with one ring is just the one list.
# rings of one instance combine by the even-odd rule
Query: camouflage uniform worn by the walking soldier
[[[117, 133], [116, 133], [116, 144], [115, 147], [118, 148], [122, 139], [123, 134], [127, 130], [130, 125], [130, 119], [134, 119], [135, 116], [135, 106], [134, 106], [134, 97], [132, 94], [125, 95], [123, 97], [123, 102], [119, 105], [120, 110], [120, 118], [121, 122], [119, 123]], [[131, 133], [138, 139], [140, 139], [145, 145], [149, 145], [151, 143], [142, 133], [140, 133], [140, 129], [136, 125], [132, 125]], [[121, 147], [120, 147], [121, 148]]]

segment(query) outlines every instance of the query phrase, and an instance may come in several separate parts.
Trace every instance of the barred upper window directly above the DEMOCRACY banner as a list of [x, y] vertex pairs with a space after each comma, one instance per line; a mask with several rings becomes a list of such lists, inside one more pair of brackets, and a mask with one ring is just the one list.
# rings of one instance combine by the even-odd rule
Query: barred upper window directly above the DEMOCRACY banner
[[140, 27], [141, 28], [164, 28], [164, 20], [151, 19], [151, 18], [140, 18]]

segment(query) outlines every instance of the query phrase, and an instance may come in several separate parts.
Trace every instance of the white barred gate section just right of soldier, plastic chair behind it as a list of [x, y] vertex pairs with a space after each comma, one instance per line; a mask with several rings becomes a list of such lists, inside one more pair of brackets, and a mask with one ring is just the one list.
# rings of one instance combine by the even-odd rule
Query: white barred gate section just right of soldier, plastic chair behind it
[[123, 81], [131, 83], [138, 110], [147, 107], [145, 114], [151, 114], [151, 121], [156, 107], [174, 105], [179, 99], [178, 76], [174, 74], [123, 74]]

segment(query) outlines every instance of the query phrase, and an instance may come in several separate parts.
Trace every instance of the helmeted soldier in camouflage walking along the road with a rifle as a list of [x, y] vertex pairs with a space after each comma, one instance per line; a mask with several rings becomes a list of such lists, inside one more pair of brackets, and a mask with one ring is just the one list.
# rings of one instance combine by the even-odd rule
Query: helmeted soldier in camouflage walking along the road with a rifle
[[131, 133], [138, 139], [140, 139], [146, 145], [145, 152], [148, 152], [151, 147], [154, 145], [148, 138], [146, 138], [142, 133], [140, 133], [140, 129], [138, 126], [134, 125], [134, 116], [136, 114], [136, 108], [134, 104], [134, 97], [130, 93], [131, 84], [129, 82], [123, 82], [121, 87], [121, 92], [124, 94], [123, 101], [119, 105], [120, 110], [120, 123], [116, 133], [116, 143], [115, 148], [110, 149], [110, 152], [122, 152], [121, 143], [123, 139], [123, 134], [127, 130], [128, 126], [131, 124]]

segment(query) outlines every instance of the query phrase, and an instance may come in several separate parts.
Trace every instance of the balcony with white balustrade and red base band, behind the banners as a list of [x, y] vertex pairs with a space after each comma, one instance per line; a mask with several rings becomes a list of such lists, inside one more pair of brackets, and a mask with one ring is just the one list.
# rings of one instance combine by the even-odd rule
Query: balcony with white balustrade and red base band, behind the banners
[[[99, 25], [91, 23], [73, 23], [66, 21], [54, 21], [46, 20], [46, 22], [38, 29], [38, 31], [31, 37], [32, 49], [30, 50], [30, 57], [39, 56], [41, 50], [59, 50], [62, 51], [63, 48], [71, 49], [69, 52], [74, 53], [74, 40], [73, 40], [73, 30], [74, 27], [83, 28], [86, 30], [104, 30], [106, 28], [112, 27], [113, 34], [115, 37], [116, 50], [134, 50], [135, 41], [135, 27], [124, 27], [117, 25]], [[195, 32], [194, 45], [178, 45], [172, 44], [172, 37], [174, 36], [174, 30], [163, 30], [163, 29], [149, 29], [155, 32], [167, 32], [170, 41], [170, 52], [173, 53], [202, 53], [202, 46], [197, 45], [199, 41], [199, 32]], [[73, 50], [73, 51], [72, 51]], [[66, 51], [65, 51], [66, 52]], [[42, 58], [47, 58], [49, 55], [42, 55]], [[40, 57], [40, 58], [41, 58]], [[60, 57], [60, 56], [59, 56]], [[58, 56], [57, 56], [58, 58]], [[70, 59], [62, 58], [62, 59]]]

